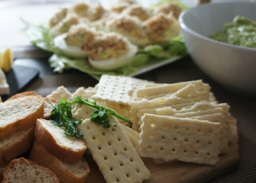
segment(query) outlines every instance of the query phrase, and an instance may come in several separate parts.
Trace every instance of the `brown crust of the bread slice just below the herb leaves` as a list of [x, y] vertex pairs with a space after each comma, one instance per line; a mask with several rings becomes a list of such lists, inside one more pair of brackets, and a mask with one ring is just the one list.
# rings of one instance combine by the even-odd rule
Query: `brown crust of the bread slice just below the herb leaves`
[[67, 163], [76, 163], [81, 160], [84, 152], [87, 149], [86, 142], [84, 140], [81, 139], [84, 144], [84, 148], [79, 150], [74, 150], [72, 148], [62, 146], [58, 144], [54, 136], [44, 126], [42, 126], [40, 120], [44, 119], [37, 119], [35, 125], [35, 138], [38, 142], [44, 145], [44, 147], [51, 154], [57, 156], [58, 159], [62, 161], [65, 161]]

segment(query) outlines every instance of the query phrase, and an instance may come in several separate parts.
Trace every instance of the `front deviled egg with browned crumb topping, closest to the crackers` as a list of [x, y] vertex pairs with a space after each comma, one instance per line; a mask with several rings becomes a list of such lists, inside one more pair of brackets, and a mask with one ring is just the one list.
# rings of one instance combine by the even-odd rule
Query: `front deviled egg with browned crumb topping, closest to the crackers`
[[132, 61], [137, 46], [116, 33], [104, 33], [84, 46], [90, 64], [100, 70], [113, 70]]

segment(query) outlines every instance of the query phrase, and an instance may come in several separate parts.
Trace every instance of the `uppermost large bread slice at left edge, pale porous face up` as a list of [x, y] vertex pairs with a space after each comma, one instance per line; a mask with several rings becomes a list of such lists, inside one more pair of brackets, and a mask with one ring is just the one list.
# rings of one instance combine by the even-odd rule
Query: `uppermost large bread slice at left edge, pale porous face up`
[[0, 103], [0, 141], [34, 126], [44, 115], [44, 98], [24, 96]]

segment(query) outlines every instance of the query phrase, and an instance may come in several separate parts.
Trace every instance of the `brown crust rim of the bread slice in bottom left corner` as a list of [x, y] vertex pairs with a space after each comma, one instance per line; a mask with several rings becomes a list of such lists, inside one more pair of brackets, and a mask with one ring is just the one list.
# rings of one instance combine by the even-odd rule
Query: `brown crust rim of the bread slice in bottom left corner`
[[[27, 160], [27, 159], [25, 159], [23, 157], [19, 158], [19, 159], [12, 160], [9, 163], [9, 165], [6, 167], [6, 169], [5, 169], [4, 173], [3, 173], [4, 180], [2, 181], [2, 183], [8, 183], [9, 182], [9, 180], [8, 180], [8, 173], [13, 171], [13, 167], [15, 167], [16, 164], [27, 164], [27, 165], [31, 165], [35, 169], [40, 169], [41, 171], [45, 171], [50, 176], [53, 177], [55, 183], [59, 183], [59, 180], [58, 180], [57, 176], [50, 169], [48, 169], [46, 167], [43, 167], [43, 166], [40, 166], [40, 165], [37, 165], [35, 162], [33, 162], [31, 160]], [[39, 179], [39, 177], [38, 177], [38, 179]], [[28, 181], [28, 180], [26, 180], [26, 181]]]

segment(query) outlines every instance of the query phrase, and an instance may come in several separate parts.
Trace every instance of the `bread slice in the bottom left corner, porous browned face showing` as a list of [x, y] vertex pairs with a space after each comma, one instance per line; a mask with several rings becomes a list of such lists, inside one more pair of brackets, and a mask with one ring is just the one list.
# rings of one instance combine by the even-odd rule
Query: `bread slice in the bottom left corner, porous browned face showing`
[[12, 160], [3, 173], [2, 183], [57, 183], [57, 176], [48, 168], [37, 165], [31, 160], [19, 158]]

